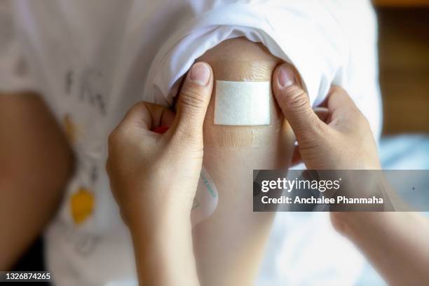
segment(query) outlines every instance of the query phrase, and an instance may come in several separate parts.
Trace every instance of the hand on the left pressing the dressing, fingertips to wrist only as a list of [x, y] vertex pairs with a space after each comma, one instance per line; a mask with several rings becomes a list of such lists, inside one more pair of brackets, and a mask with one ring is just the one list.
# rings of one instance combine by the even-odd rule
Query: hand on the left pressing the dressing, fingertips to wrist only
[[[189, 220], [203, 162], [203, 121], [212, 94], [212, 69], [194, 64], [178, 98], [177, 114], [136, 104], [109, 136], [107, 172], [126, 224]], [[164, 134], [151, 130], [170, 126]]]

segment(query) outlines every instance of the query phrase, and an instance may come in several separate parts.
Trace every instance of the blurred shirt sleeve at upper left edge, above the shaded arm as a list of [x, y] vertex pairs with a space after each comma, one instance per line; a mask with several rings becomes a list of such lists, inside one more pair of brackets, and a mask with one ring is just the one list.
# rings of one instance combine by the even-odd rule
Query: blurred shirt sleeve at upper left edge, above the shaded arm
[[34, 89], [15, 34], [11, 2], [0, 1], [0, 92]]

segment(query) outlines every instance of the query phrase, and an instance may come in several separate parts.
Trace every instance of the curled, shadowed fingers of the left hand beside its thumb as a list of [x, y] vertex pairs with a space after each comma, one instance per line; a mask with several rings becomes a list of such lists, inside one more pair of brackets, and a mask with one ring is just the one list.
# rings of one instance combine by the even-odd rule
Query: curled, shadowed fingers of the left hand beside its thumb
[[125, 114], [120, 126], [137, 125], [144, 130], [153, 130], [159, 126], [168, 126], [174, 117], [175, 112], [168, 107], [139, 102]]

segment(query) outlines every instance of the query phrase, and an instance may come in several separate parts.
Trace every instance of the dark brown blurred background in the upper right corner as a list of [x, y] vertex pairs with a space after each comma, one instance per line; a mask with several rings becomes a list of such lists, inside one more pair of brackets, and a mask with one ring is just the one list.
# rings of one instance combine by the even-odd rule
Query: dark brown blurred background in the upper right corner
[[383, 135], [429, 133], [429, 0], [374, 0]]

